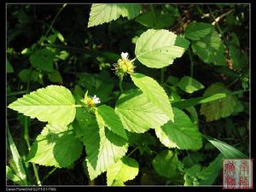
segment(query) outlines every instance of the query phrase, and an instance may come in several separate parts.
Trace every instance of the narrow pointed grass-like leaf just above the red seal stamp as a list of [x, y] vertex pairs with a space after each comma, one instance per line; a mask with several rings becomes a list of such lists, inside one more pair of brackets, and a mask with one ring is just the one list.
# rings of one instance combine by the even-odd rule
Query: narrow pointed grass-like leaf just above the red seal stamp
[[207, 138], [207, 140], [212, 143], [218, 150], [224, 154], [224, 157], [227, 159], [247, 159], [247, 156], [245, 154], [242, 154], [241, 151], [238, 149], [230, 146], [227, 143], [224, 143], [222, 141], [219, 141], [216, 138], [204, 136]]

